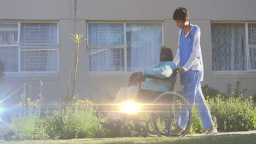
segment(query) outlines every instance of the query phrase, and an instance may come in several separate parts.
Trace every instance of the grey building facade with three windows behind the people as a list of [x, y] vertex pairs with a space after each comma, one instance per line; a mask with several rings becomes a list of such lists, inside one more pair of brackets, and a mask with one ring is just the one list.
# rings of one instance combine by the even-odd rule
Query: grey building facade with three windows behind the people
[[[60, 103], [67, 95], [70, 34], [84, 35], [79, 45], [75, 92], [80, 99], [104, 100], [127, 86], [132, 71], [159, 62], [163, 44], [178, 47], [172, 20], [177, 7], [189, 10], [190, 22], [201, 28], [205, 68], [202, 86], [225, 92], [241, 81], [245, 96], [256, 94], [256, 1], [253, 0], [1, 0], [0, 61], [5, 91], [19, 101], [42, 93], [44, 103]], [[72, 57], [71, 85], [75, 55]], [[43, 82], [42, 92], [40, 80]], [[179, 77], [176, 91], [181, 91]]]

